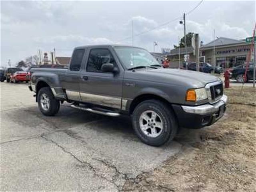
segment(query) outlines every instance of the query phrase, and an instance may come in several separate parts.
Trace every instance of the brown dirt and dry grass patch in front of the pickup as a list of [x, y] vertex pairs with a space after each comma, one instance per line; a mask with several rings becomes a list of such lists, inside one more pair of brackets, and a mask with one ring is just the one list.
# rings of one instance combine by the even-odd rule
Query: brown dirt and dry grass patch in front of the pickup
[[224, 118], [200, 130], [182, 130], [175, 138], [183, 150], [152, 172], [127, 180], [124, 191], [255, 191], [255, 89], [225, 90]]

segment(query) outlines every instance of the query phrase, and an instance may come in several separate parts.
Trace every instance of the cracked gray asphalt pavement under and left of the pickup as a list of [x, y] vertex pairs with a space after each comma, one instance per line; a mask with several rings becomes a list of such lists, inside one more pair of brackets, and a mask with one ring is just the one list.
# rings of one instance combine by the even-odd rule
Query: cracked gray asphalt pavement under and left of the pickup
[[110, 118], [61, 105], [38, 110], [28, 84], [0, 84], [0, 190], [118, 191], [181, 150], [147, 146], [129, 118]]

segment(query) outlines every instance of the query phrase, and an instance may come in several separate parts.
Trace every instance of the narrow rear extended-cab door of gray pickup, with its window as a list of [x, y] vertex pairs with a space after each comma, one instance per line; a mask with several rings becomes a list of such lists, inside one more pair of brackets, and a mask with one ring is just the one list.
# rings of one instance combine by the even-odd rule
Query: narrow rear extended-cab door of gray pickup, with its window
[[61, 82], [69, 100], [80, 101], [81, 64], [84, 58], [84, 49], [75, 49], [66, 75], [62, 76]]

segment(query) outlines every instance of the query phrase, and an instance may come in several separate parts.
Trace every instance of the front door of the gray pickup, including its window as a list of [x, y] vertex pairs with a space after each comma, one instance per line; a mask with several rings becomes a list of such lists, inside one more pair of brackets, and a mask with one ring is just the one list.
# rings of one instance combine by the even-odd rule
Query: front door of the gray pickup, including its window
[[[80, 82], [82, 102], [116, 109], [121, 108], [123, 69], [113, 55], [108, 47], [90, 50]], [[105, 63], [114, 64], [119, 72], [116, 74], [102, 72], [101, 66]]]

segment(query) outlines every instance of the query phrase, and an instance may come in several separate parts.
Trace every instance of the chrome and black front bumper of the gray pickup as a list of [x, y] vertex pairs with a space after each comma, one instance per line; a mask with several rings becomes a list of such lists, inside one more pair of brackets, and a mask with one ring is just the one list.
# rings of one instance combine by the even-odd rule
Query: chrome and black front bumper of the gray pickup
[[214, 104], [204, 104], [200, 106], [180, 106], [173, 104], [180, 127], [202, 128], [209, 126], [219, 120], [226, 111], [227, 96], [223, 95]]

